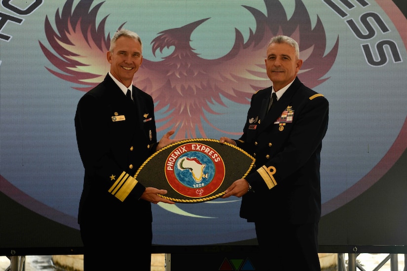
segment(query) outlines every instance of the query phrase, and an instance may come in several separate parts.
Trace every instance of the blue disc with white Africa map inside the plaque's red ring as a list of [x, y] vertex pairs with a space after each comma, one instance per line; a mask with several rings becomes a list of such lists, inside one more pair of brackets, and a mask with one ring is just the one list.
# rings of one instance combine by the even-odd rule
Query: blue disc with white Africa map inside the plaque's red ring
[[205, 153], [190, 151], [178, 157], [174, 174], [186, 187], [200, 188], [213, 180], [215, 164]]

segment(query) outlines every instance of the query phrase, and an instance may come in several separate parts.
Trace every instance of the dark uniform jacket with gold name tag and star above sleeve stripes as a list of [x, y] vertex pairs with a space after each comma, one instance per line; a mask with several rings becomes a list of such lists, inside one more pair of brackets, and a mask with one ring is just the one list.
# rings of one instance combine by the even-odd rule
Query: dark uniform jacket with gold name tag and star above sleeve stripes
[[145, 187], [133, 176], [157, 145], [154, 105], [135, 86], [133, 97], [135, 103], [108, 74], [78, 102], [76, 139], [85, 169], [79, 224], [152, 220], [150, 203], [139, 200]]

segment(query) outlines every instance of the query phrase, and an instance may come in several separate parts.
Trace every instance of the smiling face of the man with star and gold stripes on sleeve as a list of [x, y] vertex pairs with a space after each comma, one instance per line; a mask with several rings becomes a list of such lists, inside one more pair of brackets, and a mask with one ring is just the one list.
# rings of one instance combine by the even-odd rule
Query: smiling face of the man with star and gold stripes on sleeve
[[114, 48], [108, 51], [107, 59], [114, 78], [129, 87], [143, 62], [141, 44], [130, 37], [121, 36], [116, 40]]

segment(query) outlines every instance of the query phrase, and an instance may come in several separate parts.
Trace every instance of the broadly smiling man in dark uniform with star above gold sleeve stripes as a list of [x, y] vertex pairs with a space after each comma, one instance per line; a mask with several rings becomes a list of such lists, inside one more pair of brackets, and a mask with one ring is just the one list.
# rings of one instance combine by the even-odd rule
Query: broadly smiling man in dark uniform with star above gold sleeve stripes
[[[175, 143], [173, 131], [156, 139], [151, 96], [133, 85], [143, 62], [142, 41], [128, 30], [111, 39], [105, 80], [78, 102], [76, 139], [85, 168], [78, 223], [84, 270], [150, 270], [151, 203], [173, 203], [133, 176], [156, 150]], [[127, 97], [126, 97], [127, 94]]]

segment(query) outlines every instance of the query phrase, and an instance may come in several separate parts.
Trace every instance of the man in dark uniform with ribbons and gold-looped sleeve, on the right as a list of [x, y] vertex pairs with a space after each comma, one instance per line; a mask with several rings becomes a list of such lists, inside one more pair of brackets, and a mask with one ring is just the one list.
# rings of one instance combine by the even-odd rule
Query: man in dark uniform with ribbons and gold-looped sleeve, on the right
[[223, 198], [242, 197], [240, 216], [254, 222], [261, 271], [319, 271], [320, 153], [329, 103], [304, 86], [297, 42], [275, 36], [266, 49], [272, 86], [251, 100], [243, 135], [235, 144], [256, 158]]

